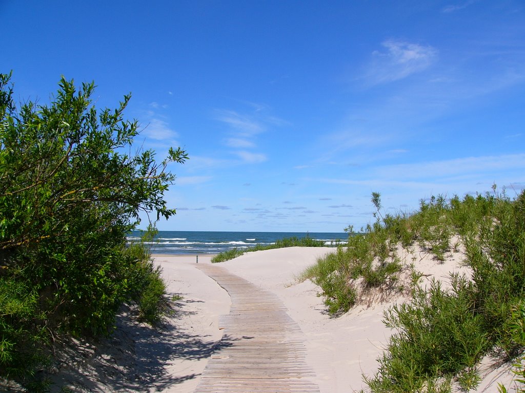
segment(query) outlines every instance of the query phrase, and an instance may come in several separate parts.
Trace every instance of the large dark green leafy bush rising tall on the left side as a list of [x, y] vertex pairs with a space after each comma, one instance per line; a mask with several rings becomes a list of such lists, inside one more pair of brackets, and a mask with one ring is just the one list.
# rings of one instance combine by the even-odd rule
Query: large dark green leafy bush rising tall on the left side
[[130, 155], [130, 96], [97, 111], [93, 90], [62, 78], [49, 105], [17, 108], [0, 75], [0, 376], [30, 375], [62, 334], [107, 334], [124, 301], [156, 319], [160, 272], [145, 250], [125, 247], [126, 235], [141, 211], [175, 213], [166, 167], [187, 155], [170, 149], [160, 164], [152, 151]]

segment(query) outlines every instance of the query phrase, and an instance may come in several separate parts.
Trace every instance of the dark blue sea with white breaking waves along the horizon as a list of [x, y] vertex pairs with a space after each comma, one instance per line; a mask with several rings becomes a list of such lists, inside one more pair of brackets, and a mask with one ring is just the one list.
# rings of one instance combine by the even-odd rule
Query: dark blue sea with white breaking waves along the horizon
[[[133, 231], [128, 242], [140, 241], [141, 232]], [[346, 233], [331, 232], [197, 232], [159, 231], [153, 242], [146, 242], [152, 254], [202, 255], [219, 254], [232, 248], [249, 248], [257, 244], [270, 245], [289, 237], [310, 237], [337, 246], [348, 239]]]

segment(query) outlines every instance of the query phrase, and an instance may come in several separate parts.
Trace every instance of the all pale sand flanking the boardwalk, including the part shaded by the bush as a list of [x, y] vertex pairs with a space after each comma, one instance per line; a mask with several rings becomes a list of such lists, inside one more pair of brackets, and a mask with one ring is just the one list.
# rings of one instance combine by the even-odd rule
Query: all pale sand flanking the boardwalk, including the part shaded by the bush
[[[391, 335], [382, 323], [383, 311], [407, 297], [398, 294], [381, 301], [380, 296], [371, 296], [350, 312], [331, 318], [318, 297], [318, 288], [309, 280], [298, 282], [297, 276], [333, 250], [281, 248], [247, 253], [218, 266], [275, 293], [304, 334], [306, 362], [315, 373], [314, 383], [320, 392], [346, 393], [365, 387], [362, 374], [376, 372], [376, 358]], [[93, 348], [86, 355], [89, 359], [69, 374], [62, 366], [55, 379], [75, 381], [75, 391], [193, 392], [222, 337], [219, 315], [227, 314], [230, 307], [228, 293], [198, 268], [210, 264], [210, 259], [199, 256], [197, 265], [195, 256], [155, 256], [170, 296], [182, 297], [175, 302], [172, 318], [155, 330], [121, 317], [111, 339]], [[416, 268], [424, 271], [426, 282], [432, 277], [447, 282], [451, 271], [468, 274], [461, 266], [460, 253], [449, 255], [444, 263], [419, 253], [404, 252], [402, 259], [407, 265], [414, 261]], [[497, 359], [487, 357], [479, 370], [483, 379], [478, 392], [496, 392], [498, 382], [511, 386], [508, 364], [498, 366]]]

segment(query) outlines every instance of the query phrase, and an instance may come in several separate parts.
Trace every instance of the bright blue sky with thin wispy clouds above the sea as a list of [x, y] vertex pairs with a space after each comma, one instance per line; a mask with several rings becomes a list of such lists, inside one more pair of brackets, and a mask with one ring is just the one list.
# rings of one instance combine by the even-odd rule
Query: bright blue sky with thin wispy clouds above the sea
[[1, 1], [0, 72], [136, 118], [182, 231], [342, 232], [430, 195], [525, 188], [522, 1]]

